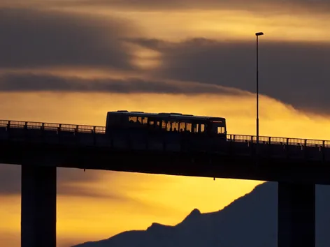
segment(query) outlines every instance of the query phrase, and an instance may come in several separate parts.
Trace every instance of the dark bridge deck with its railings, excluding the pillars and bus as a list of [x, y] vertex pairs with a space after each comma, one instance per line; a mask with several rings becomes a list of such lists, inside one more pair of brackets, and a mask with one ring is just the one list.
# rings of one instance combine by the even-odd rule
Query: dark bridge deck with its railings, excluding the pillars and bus
[[[0, 163], [330, 184], [330, 142], [0, 121]], [[256, 148], [258, 146], [258, 155]], [[256, 165], [257, 164], [257, 165]]]

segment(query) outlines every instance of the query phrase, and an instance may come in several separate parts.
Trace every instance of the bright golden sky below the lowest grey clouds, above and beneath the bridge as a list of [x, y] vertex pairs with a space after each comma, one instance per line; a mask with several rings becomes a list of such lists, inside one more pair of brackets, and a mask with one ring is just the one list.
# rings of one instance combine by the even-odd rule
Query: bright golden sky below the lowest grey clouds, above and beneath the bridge
[[[253, 96], [236, 98], [131, 94], [123, 97], [115, 94], [8, 93], [1, 94], [1, 98], [8, 103], [0, 107], [3, 113], [1, 117], [6, 116], [7, 119], [103, 125], [107, 110], [180, 110], [192, 114], [226, 116], [229, 133], [253, 135], [255, 131]], [[329, 123], [330, 119], [307, 116], [276, 100], [261, 97], [261, 135], [323, 137], [330, 140], [330, 130], [326, 128]], [[99, 179], [89, 181], [91, 174], [96, 174]], [[152, 222], [175, 224], [194, 208], [202, 212], [222, 209], [260, 183], [118, 172], [84, 173], [82, 170], [77, 170], [76, 176], [85, 176], [87, 182], [73, 184], [73, 188], [97, 191], [101, 196], [57, 197], [59, 246], [61, 243], [104, 239], [124, 230], [145, 229]], [[126, 200], [113, 199], [113, 193], [124, 196]], [[20, 195], [2, 196], [0, 212], [1, 218], [6, 219], [0, 223], [0, 240], [10, 246], [17, 246]]]

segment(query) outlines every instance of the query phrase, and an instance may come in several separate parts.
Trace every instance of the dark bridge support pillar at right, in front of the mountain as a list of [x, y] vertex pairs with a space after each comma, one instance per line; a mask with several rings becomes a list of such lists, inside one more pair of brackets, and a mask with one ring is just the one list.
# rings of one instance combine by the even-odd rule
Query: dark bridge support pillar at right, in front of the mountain
[[278, 183], [278, 247], [315, 247], [315, 184]]

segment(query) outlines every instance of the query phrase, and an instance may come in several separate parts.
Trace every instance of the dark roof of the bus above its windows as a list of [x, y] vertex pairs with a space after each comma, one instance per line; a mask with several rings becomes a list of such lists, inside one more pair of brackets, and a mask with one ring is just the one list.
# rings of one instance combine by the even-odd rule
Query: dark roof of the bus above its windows
[[148, 113], [148, 112], [129, 112], [127, 110], [118, 110], [117, 112], [108, 112], [108, 114], [120, 114], [129, 115], [132, 117], [174, 117], [178, 119], [199, 119], [199, 120], [213, 120], [213, 121], [224, 121], [223, 117], [207, 117], [207, 116], [194, 116], [192, 114], [182, 114], [177, 112], [160, 112], [160, 113]]

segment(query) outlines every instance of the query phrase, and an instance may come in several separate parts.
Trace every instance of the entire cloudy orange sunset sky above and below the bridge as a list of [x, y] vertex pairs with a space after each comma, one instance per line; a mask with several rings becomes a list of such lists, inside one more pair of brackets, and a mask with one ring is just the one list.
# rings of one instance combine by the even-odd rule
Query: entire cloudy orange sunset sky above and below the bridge
[[[260, 135], [330, 140], [330, 1], [0, 0], [0, 119], [104, 126], [106, 112], [182, 112]], [[155, 164], [157, 165], [157, 164]], [[190, 211], [261, 181], [58, 169], [59, 247]], [[20, 246], [20, 166], [0, 165], [0, 244]]]

